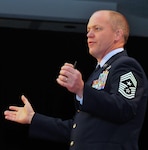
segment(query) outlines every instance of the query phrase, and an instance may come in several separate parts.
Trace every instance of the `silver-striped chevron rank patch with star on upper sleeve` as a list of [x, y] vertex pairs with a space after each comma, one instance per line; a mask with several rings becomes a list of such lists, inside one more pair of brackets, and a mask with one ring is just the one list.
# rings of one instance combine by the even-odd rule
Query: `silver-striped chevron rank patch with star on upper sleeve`
[[126, 98], [132, 99], [135, 97], [137, 81], [132, 72], [126, 73], [120, 77], [118, 91]]

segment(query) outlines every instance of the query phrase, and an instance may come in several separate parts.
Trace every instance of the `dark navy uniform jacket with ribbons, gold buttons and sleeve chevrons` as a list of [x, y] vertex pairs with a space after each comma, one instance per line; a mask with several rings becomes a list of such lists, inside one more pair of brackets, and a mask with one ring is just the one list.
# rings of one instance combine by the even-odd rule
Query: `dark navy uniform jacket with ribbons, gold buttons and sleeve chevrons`
[[67, 142], [70, 150], [138, 150], [147, 99], [145, 72], [124, 50], [90, 75], [72, 119], [36, 113], [29, 135]]

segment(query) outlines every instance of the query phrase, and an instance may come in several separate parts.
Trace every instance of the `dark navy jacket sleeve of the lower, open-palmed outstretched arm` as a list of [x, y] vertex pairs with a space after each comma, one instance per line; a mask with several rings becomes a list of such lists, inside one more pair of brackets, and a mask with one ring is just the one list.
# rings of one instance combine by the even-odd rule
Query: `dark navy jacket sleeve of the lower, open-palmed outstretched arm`
[[35, 113], [29, 127], [29, 137], [66, 143], [70, 140], [71, 120], [48, 117]]

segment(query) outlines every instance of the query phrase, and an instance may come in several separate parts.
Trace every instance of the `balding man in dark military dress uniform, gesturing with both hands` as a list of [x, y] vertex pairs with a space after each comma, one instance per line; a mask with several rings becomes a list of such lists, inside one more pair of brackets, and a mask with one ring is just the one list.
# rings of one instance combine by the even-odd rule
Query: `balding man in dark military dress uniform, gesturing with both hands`
[[147, 98], [147, 77], [124, 46], [129, 25], [119, 12], [100, 10], [87, 25], [89, 53], [97, 67], [87, 82], [70, 63], [57, 83], [76, 94], [76, 114], [61, 120], [34, 112], [22, 95], [24, 107], [10, 106], [5, 119], [30, 124], [29, 136], [70, 143], [70, 150], [138, 150]]

